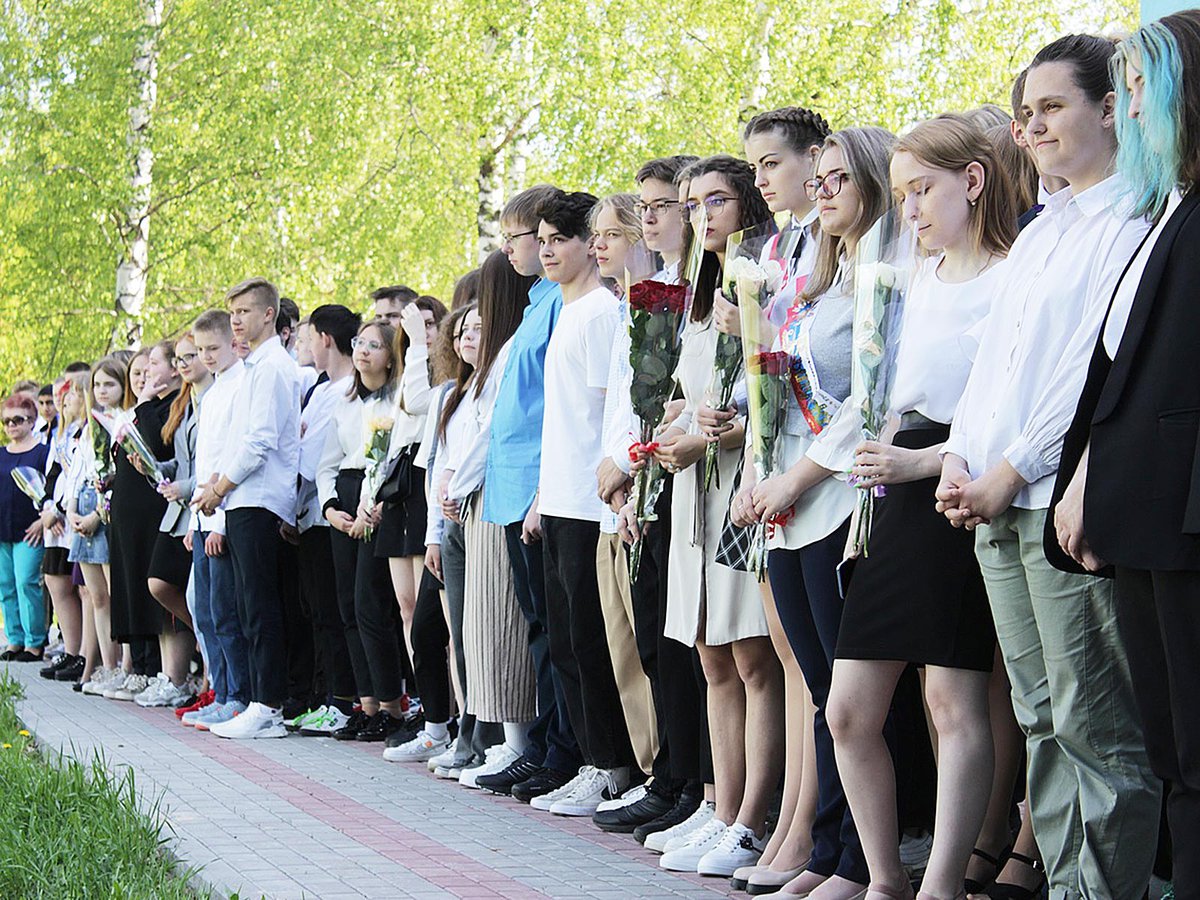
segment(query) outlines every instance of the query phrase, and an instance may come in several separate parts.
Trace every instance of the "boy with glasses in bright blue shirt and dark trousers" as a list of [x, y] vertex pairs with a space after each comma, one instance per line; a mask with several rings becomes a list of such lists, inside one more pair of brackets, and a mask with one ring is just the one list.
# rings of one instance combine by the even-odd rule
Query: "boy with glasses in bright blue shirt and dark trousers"
[[[500, 214], [500, 250], [517, 275], [539, 280], [528, 290], [528, 305], [503, 364], [498, 355], [500, 347], [490, 344], [487, 334], [484, 336], [476, 390], [484, 390], [482, 385], [488, 383], [486, 376], [494, 367], [500, 373], [494, 385], [496, 400], [491, 403], [491, 418], [481, 422], [480, 437], [455, 473], [448, 493], [450, 500], [461, 503], [484, 485], [482, 517], [504, 526], [517, 601], [529, 623], [538, 719], [529, 728], [522, 758], [498, 773], [503, 779], [488, 788], [510, 792], [526, 803], [562, 787], [580, 767], [578, 744], [568, 721], [563, 673], [550, 654], [541, 534], [524, 528], [541, 466], [546, 346], [563, 302], [558, 284], [542, 277], [538, 210], [562, 193], [557, 187], [536, 185], [516, 194]], [[517, 312], [510, 307], [505, 317]]]

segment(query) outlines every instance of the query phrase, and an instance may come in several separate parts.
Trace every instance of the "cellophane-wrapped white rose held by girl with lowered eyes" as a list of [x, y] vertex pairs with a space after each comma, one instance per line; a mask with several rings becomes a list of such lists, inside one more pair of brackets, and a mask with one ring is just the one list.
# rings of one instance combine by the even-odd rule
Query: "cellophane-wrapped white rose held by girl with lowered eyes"
[[[905, 298], [916, 265], [917, 235], [896, 210], [886, 212], [858, 242], [854, 259], [854, 336], [847, 403], [862, 414], [863, 440], [888, 443], [899, 426], [890, 410]], [[846, 539], [847, 559], [869, 556], [875, 500], [883, 485], [856, 480], [858, 504]]]

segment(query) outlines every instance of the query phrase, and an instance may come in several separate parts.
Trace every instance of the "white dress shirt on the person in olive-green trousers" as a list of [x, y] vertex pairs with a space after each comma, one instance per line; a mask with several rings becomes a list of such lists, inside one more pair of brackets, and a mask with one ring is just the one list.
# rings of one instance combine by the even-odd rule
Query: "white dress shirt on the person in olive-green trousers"
[[1128, 217], [1112, 175], [1064, 190], [1018, 236], [942, 452], [972, 478], [1007, 460], [1025, 479], [1020, 509], [1050, 505], [1062, 438], [1079, 402], [1112, 288], [1150, 230]]

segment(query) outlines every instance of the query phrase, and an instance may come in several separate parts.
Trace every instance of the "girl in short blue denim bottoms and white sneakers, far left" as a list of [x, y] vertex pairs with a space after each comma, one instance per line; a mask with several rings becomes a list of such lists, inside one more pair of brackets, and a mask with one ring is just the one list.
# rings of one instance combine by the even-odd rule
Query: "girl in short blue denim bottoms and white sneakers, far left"
[[103, 695], [106, 690], [124, 684], [126, 673], [121, 668], [121, 649], [113, 638], [113, 610], [109, 594], [109, 521], [106, 509], [106, 492], [110, 490], [109, 475], [103, 484], [100, 472], [110, 472], [113, 448], [108, 432], [95, 419], [91, 410], [115, 415], [125, 402], [127, 370], [114, 356], [98, 360], [88, 376], [86, 409], [89, 421], [80, 437], [83, 444], [71, 461], [67, 473], [67, 524], [71, 527], [72, 563], [79, 565], [84, 586], [84, 614], [91, 616], [96, 635], [96, 653], [89, 658], [84, 670], [84, 694]]

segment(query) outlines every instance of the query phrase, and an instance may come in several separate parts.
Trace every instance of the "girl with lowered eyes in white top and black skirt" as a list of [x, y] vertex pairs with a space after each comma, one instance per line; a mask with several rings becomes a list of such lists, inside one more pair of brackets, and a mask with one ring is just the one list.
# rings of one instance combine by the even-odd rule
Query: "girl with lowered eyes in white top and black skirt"
[[883, 728], [906, 666], [925, 667], [938, 809], [922, 896], [944, 898], [962, 889], [988, 806], [995, 631], [971, 536], [929, 499], [971, 372], [973, 335], [1003, 284], [998, 264], [1016, 236], [1018, 208], [988, 137], [960, 115], [922, 122], [900, 139], [892, 190], [905, 226], [934, 256], [905, 300], [889, 397], [889, 415], [900, 419], [894, 439], [859, 443], [862, 415], [840, 416], [830, 427], [830, 440], [840, 437], [847, 451], [857, 444], [851, 472], [860, 490], [887, 485], [888, 492], [875, 500], [871, 552], [858, 560], [846, 595], [828, 719], [871, 872], [868, 896], [911, 896]]

